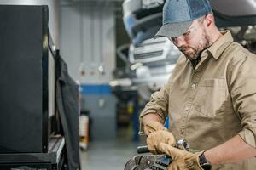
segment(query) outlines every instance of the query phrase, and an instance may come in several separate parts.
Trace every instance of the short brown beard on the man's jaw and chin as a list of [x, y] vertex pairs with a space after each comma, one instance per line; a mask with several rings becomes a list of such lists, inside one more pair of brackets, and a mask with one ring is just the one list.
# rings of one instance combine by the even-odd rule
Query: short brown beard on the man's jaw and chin
[[204, 31], [201, 40], [198, 42], [198, 44], [193, 47], [193, 46], [181, 46], [178, 48], [185, 56], [187, 59], [197, 59], [200, 55], [201, 52], [208, 48], [210, 46], [210, 37], [206, 34]]

